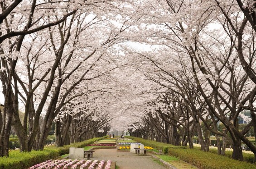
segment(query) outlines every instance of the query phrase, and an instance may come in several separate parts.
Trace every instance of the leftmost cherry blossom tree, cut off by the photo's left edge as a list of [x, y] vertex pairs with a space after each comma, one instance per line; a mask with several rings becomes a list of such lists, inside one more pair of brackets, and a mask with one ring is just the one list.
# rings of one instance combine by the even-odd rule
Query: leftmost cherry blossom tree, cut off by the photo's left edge
[[[0, 155], [8, 156], [8, 140], [10, 128], [14, 119], [18, 120], [18, 89], [17, 79], [15, 78], [15, 67], [20, 56], [20, 49], [24, 42], [25, 35], [38, 32], [47, 27], [62, 23], [77, 9], [66, 10], [59, 17], [51, 17], [47, 14], [48, 9], [42, 7], [48, 2], [37, 2], [37, 0], [14, 0], [0, 2], [0, 47], [1, 47], [1, 82], [3, 94], [5, 95], [5, 108], [1, 120], [3, 121], [0, 133]], [[52, 8], [48, 12], [60, 12], [57, 6], [59, 3], [52, 2]], [[64, 2], [64, 4], [66, 4]], [[56, 6], [57, 5], [57, 6]], [[63, 5], [63, 4], [62, 4]], [[18, 37], [19, 36], [19, 37]], [[12, 89], [12, 79], [14, 89]], [[20, 124], [20, 123], [19, 123]], [[24, 136], [24, 133], [21, 133]], [[23, 145], [24, 147], [24, 145]]]

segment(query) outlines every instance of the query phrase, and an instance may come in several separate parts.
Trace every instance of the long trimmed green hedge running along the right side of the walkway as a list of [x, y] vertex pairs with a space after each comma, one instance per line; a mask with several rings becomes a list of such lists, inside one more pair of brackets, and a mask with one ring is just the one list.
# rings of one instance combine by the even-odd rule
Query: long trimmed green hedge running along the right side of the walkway
[[[171, 144], [145, 140], [138, 137], [128, 138], [131, 138], [146, 146], [154, 147], [155, 149], [162, 149], [164, 153], [167, 149], [168, 155], [176, 156], [180, 160], [184, 160], [190, 164], [197, 166], [199, 169], [256, 169], [255, 164], [249, 164], [244, 161], [233, 160], [227, 156], [217, 155], [212, 152], [204, 152], [199, 150], [198, 148], [189, 149], [184, 146], [173, 146]], [[226, 153], [228, 154], [230, 152], [226, 151]], [[245, 155], [245, 153], [243, 155], [244, 158], [247, 158], [246, 156], [251, 156], [249, 154]]]

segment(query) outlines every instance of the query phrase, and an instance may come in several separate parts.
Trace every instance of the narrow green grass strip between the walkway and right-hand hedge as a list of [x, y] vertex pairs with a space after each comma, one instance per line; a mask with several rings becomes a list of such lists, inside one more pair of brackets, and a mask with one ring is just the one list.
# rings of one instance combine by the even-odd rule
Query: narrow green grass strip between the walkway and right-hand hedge
[[179, 160], [178, 158], [170, 155], [156, 155], [160, 159], [166, 161], [167, 163], [173, 165], [177, 169], [197, 169], [197, 167], [186, 163], [185, 161]]

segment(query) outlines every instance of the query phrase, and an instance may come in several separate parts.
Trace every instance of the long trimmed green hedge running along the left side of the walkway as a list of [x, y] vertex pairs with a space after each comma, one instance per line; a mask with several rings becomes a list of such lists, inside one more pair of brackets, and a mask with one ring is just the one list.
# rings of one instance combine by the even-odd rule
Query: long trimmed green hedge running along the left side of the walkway
[[26, 169], [43, 161], [54, 159], [60, 155], [68, 154], [69, 147], [84, 147], [105, 137], [92, 138], [84, 142], [77, 142], [63, 147], [47, 146], [43, 151], [19, 152], [12, 150], [9, 157], [0, 157], [0, 169]]

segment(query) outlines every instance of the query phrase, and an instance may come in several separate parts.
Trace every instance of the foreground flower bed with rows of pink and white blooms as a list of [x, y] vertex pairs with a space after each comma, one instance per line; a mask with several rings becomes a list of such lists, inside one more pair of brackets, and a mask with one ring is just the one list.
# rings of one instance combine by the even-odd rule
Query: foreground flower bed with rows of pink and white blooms
[[111, 160], [48, 160], [29, 169], [111, 169]]

